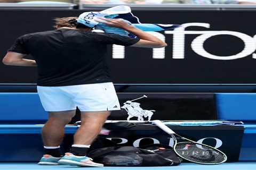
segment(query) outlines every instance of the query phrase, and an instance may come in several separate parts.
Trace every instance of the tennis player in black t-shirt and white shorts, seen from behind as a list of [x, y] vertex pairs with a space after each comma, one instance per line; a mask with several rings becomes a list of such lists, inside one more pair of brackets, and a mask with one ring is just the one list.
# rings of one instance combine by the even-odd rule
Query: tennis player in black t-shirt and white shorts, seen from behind
[[[166, 46], [162, 40], [118, 19], [101, 18], [109, 26], [125, 29], [138, 38], [92, 32], [92, 28], [76, 20], [58, 18], [56, 30], [19, 37], [3, 58], [6, 65], [38, 67], [37, 91], [49, 112], [42, 129], [45, 154], [39, 165], [103, 166], [92, 162], [86, 154], [110, 112], [120, 109], [105, 61], [107, 45]], [[35, 60], [25, 59], [28, 55]], [[76, 107], [81, 111], [81, 127], [74, 135], [70, 152], [63, 156], [60, 145], [64, 128], [75, 115]]]

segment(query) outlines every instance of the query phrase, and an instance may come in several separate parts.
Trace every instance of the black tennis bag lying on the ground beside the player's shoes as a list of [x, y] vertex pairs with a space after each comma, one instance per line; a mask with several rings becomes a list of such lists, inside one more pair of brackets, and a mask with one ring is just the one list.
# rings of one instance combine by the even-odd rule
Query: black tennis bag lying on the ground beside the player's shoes
[[174, 166], [182, 159], [170, 146], [153, 144], [143, 147], [113, 146], [92, 150], [88, 154], [104, 166]]

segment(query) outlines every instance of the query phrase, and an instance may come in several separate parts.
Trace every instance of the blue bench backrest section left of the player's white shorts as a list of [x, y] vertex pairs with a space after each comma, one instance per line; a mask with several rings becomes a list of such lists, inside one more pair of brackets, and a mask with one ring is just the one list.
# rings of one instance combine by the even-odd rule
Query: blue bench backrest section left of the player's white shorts
[[47, 120], [37, 93], [0, 93], [0, 121]]

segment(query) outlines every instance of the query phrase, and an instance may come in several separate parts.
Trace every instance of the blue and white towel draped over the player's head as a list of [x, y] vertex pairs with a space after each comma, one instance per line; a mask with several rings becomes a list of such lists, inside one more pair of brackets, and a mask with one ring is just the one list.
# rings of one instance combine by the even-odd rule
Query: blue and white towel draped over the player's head
[[100, 12], [84, 12], [81, 15], [79, 15], [77, 22], [82, 23], [87, 27], [95, 27], [95, 29], [104, 30], [107, 33], [116, 33], [122, 36], [135, 37], [130, 32], [127, 32], [124, 29], [109, 27], [104, 23], [99, 23], [95, 21], [97, 17], [123, 19], [129, 24], [132, 24], [134, 27], [141, 29], [142, 31], [163, 31], [180, 27], [180, 25], [177, 24], [141, 23], [139, 18], [132, 14], [131, 8], [125, 5], [114, 6]]

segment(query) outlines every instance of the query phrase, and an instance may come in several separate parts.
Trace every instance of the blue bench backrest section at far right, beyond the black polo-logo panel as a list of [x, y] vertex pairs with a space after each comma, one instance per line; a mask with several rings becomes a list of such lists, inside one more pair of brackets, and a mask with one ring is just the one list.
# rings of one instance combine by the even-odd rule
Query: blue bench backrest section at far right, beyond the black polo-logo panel
[[256, 121], [256, 94], [218, 93], [216, 104], [219, 120]]

